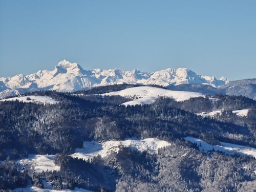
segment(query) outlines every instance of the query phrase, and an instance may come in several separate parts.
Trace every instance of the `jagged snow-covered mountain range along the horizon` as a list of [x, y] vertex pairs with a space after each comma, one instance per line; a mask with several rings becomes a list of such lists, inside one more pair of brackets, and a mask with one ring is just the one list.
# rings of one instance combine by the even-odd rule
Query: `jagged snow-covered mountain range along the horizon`
[[15, 75], [0, 78], [0, 98], [38, 90], [56, 90], [73, 92], [111, 84], [157, 84], [160, 86], [179, 84], [206, 84], [215, 88], [229, 82], [225, 77], [197, 75], [187, 68], [155, 72], [141, 72], [137, 69], [124, 71], [120, 69], [84, 70], [77, 63], [62, 60], [53, 71], [43, 70], [30, 75]]

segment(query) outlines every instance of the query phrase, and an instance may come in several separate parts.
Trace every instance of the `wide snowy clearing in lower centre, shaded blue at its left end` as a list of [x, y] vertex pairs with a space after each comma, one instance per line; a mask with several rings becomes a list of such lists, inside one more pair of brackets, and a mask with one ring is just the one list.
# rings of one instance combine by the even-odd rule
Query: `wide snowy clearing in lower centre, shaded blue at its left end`
[[92, 159], [97, 155], [101, 157], [106, 157], [111, 154], [111, 152], [116, 152], [122, 147], [131, 147], [133, 150], [138, 150], [140, 152], [147, 151], [148, 153], [157, 153], [159, 148], [169, 146], [170, 143], [156, 138], [147, 138], [143, 140], [136, 139], [126, 139], [124, 141], [105, 141], [98, 143], [96, 141], [84, 141], [83, 148], [78, 148], [76, 153], [72, 154], [72, 157], [82, 158], [83, 160]]

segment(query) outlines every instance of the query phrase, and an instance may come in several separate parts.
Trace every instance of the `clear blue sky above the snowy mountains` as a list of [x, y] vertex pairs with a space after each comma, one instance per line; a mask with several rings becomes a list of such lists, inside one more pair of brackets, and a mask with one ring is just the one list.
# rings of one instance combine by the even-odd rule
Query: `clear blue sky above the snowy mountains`
[[256, 1], [0, 0], [0, 76], [186, 67], [256, 78]]

